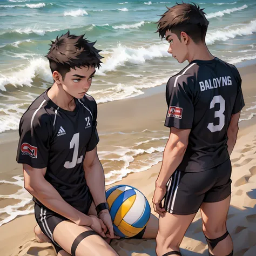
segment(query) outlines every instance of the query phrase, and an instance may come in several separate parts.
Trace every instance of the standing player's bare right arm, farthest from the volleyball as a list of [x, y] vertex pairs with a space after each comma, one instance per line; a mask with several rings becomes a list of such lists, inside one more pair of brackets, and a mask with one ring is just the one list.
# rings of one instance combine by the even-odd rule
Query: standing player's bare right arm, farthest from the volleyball
[[227, 129], [227, 137], [228, 137], [227, 151], [229, 155], [231, 155], [234, 149], [234, 145], [237, 142], [237, 133], [239, 130], [239, 127], [238, 127], [239, 118], [240, 118], [240, 111], [236, 114], [232, 114], [230, 125], [228, 126], [228, 129]]

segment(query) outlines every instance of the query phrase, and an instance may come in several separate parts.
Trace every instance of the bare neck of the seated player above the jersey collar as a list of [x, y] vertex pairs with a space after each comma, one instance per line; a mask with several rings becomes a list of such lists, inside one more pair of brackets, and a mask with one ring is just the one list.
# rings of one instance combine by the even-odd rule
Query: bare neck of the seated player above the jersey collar
[[52, 102], [62, 109], [73, 111], [76, 107], [74, 97], [63, 90], [62, 85], [58, 85], [56, 82], [52, 85], [47, 95]]

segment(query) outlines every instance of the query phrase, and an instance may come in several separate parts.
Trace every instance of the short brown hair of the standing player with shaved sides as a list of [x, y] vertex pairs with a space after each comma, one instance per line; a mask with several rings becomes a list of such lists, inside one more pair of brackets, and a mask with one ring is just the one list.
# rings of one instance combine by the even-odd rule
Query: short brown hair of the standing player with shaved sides
[[204, 42], [209, 22], [205, 17], [204, 9], [199, 5], [182, 3], [172, 6], [157, 22], [159, 36], [165, 37], [167, 30], [175, 33], [180, 40], [180, 32], [184, 31], [192, 38], [194, 43]]

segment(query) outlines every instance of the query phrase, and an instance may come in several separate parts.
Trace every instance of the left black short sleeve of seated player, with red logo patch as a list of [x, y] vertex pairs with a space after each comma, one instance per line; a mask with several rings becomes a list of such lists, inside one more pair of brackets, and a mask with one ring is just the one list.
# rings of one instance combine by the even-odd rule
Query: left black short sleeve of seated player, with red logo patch
[[17, 162], [33, 168], [47, 167], [50, 148], [48, 114], [33, 119], [25, 113], [19, 123]]

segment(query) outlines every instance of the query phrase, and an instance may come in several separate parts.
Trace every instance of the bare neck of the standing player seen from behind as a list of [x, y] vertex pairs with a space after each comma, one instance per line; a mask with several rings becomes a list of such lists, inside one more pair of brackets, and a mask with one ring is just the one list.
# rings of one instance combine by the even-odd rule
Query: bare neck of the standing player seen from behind
[[194, 59], [198, 60], [211, 60], [214, 56], [208, 50], [205, 43], [191, 45], [191, 49], [188, 50], [187, 60], [192, 62]]

